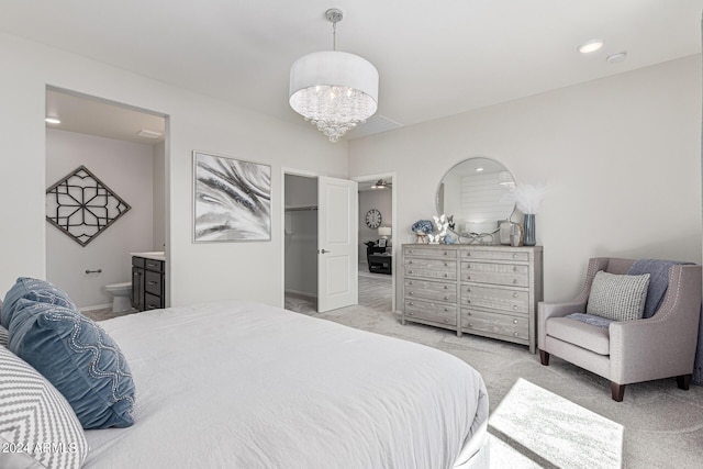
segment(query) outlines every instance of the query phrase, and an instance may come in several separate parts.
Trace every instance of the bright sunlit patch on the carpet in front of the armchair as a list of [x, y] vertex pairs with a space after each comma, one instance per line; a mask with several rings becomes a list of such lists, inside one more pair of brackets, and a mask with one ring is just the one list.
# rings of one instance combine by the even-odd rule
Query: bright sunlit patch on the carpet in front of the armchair
[[[491, 415], [489, 428], [528, 456], [528, 464], [536, 465], [531, 467], [622, 467], [623, 425], [522, 378]], [[494, 453], [492, 446], [491, 458]], [[492, 460], [491, 466], [495, 467]]]

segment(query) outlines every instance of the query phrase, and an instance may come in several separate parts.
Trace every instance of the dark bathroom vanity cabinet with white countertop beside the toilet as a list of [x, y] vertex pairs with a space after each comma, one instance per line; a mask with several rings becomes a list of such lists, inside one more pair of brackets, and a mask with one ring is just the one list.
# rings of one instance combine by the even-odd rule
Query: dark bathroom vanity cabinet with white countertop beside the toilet
[[166, 308], [166, 257], [164, 253], [132, 255], [132, 308], [137, 311]]

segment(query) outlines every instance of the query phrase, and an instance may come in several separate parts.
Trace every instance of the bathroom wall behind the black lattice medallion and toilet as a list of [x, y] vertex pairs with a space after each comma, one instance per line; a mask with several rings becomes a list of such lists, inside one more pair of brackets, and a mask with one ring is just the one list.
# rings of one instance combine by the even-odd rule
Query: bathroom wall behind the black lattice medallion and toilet
[[[130, 281], [130, 253], [152, 250], [152, 145], [46, 131], [47, 187], [83, 165], [131, 206], [85, 247], [45, 222], [46, 279], [78, 308], [110, 304], [103, 287]], [[102, 272], [86, 275], [86, 269]]]

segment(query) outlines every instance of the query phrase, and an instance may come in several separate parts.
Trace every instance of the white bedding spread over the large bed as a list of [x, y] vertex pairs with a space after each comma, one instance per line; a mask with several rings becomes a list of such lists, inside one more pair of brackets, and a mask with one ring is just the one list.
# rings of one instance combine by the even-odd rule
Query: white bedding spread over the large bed
[[132, 368], [135, 425], [86, 432], [86, 468], [451, 468], [488, 418], [458, 358], [278, 308], [101, 325]]

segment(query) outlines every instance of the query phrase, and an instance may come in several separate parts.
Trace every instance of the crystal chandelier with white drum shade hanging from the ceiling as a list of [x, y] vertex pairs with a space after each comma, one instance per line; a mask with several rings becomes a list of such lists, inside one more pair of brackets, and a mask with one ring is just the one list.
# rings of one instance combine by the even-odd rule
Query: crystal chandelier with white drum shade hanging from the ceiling
[[337, 52], [342, 11], [330, 9], [332, 51], [304, 55], [290, 69], [290, 105], [330, 142], [362, 124], [378, 108], [378, 70], [358, 55]]

